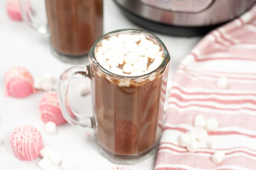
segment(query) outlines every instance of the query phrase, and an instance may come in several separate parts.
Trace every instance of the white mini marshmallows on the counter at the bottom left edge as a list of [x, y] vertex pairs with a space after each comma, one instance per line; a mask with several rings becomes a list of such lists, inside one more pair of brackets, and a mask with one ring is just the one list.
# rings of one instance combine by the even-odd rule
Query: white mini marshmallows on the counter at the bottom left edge
[[61, 170], [76, 170], [76, 166], [69, 160], [62, 160], [61, 155], [46, 146], [39, 152], [42, 159], [38, 162], [41, 170], [57, 170], [58, 165], [61, 165]]

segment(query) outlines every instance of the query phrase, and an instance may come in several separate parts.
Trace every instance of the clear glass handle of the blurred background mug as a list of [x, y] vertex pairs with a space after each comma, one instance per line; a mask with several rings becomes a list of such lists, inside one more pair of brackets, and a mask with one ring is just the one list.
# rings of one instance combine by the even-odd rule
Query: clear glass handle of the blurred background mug
[[20, 0], [22, 19], [41, 34], [47, 34], [47, 14], [45, 0]]

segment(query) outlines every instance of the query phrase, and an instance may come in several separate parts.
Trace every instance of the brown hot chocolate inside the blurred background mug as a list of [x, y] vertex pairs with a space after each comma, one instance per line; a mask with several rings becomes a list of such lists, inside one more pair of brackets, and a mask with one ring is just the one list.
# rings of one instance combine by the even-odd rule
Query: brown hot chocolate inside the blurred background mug
[[53, 48], [62, 55], [86, 55], [102, 35], [102, 0], [46, 0]]

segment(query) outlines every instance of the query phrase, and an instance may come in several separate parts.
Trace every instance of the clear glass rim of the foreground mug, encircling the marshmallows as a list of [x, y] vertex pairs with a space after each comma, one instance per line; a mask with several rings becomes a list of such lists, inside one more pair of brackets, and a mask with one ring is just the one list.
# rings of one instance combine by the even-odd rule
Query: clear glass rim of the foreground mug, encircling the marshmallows
[[[105, 69], [103, 66], [100, 65], [100, 63], [96, 60], [95, 58], [95, 50], [96, 47], [98, 46], [98, 44], [105, 39], [105, 37], [111, 36], [111, 35], [115, 35], [116, 33], [131, 33], [131, 32], [137, 32], [140, 34], [144, 34], [144, 35], [150, 35], [151, 37], [153, 37], [155, 40], [157, 40], [157, 43], [160, 44], [160, 46], [163, 47], [163, 52], [164, 52], [164, 57], [163, 57], [163, 61], [162, 63], [154, 70], [152, 70], [151, 72], [144, 74], [144, 75], [138, 75], [138, 76], [125, 76], [125, 75], [117, 75], [113, 72], [110, 72], [109, 70]], [[154, 35], [151, 32], [145, 31], [143, 29], [118, 29], [112, 32], [108, 32], [104, 35], [102, 35], [101, 37], [99, 37], [96, 42], [93, 44], [92, 48], [89, 51], [89, 55], [88, 55], [89, 59], [96, 64], [96, 68], [100, 68], [100, 71], [104, 72], [106, 75], [111, 76], [112, 78], [124, 78], [124, 79], [129, 79], [129, 80], [138, 80], [138, 79], [145, 79], [145, 78], [149, 78], [153, 72], [157, 72], [162, 74], [165, 71], [166, 66], [168, 65], [169, 61], [170, 61], [170, 55], [169, 52], [165, 46], [165, 44], [163, 43], [162, 40], [160, 40], [160, 38], [158, 38], [156, 35]], [[158, 69], [160, 69], [160, 71], [158, 71]]]

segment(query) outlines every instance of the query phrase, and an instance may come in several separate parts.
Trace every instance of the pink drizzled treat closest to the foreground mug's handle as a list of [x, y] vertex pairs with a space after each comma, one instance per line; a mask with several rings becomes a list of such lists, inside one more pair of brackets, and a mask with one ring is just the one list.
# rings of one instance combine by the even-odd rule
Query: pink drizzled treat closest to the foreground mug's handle
[[58, 94], [56, 92], [45, 93], [39, 104], [39, 109], [44, 123], [53, 121], [56, 125], [61, 125], [66, 122], [61, 114]]

